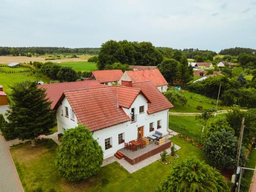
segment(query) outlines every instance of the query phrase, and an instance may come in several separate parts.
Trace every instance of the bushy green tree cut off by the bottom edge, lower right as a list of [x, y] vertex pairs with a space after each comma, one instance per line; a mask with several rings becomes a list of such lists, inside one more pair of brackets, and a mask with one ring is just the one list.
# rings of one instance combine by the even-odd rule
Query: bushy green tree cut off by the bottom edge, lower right
[[161, 192], [226, 192], [229, 188], [220, 172], [190, 157], [175, 161], [169, 176], [158, 187]]

